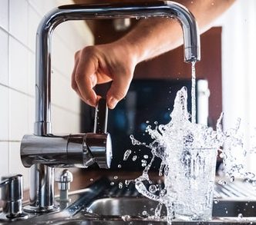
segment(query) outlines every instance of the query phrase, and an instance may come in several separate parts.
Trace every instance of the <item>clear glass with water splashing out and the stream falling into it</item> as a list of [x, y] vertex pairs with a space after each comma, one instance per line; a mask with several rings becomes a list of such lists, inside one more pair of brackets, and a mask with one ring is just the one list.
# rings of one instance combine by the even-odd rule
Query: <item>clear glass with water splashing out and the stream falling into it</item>
[[[243, 137], [239, 132], [240, 120], [234, 128], [223, 131], [221, 122], [223, 114], [217, 121], [217, 129], [196, 124], [195, 111], [195, 69], [192, 65], [192, 117], [187, 111], [187, 88], [177, 92], [169, 124], [156, 124], [153, 129], [147, 127], [152, 137], [150, 144], [141, 143], [133, 135], [133, 145], [148, 147], [153, 155], [143, 173], [135, 180], [136, 189], [143, 196], [159, 202], [155, 217], [160, 217], [162, 205], [167, 208], [167, 221], [173, 217], [185, 220], [209, 220], [213, 203], [214, 177], [217, 151], [221, 151], [225, 173], [254, 177], [244, 170], [243, 164], [237, 164], [234, 150], [240, 157], [245, 157]], [[149, 170], [156, 157], [161, 159], [159, 175], [164, 177], [165, 187], [162, 190], [150, 180]]]

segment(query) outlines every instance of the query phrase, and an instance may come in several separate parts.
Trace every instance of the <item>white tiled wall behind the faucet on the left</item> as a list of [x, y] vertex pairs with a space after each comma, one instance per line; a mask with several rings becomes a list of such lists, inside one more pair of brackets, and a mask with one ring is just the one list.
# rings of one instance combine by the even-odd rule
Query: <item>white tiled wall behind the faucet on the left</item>
[[[35, 122], [35, 35], [42, 16], [59, 4], [58, 0], [0, 0], [0, 177], [8, 173], [24, 175], [29, 187], [29, 169], [19, 154], [24, 134], [32, 134]], [[52, 40], [52, 124], [53, 131], [79, 131], [79, 98], [72, 91], [70, 75], [73, 55], [93, 44], [85, 24], [84, 36], [72, 23], [62, 25]]]

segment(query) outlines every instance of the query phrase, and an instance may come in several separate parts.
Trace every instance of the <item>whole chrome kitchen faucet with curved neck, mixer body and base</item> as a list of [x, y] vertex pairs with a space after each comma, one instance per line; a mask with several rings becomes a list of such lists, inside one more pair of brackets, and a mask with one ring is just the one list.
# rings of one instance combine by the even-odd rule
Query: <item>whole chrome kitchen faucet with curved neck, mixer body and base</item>
[[[177, 18], [184, 33], [184, 61], [200, 60], [200, 38], [194, 16], [176, 2], [120, 3], [112, 5], [64, 5], [42, 19], [36, 36], [35, 134], [25, 135], [21, 145], [22, 163], [31, 168], [30, 206], [32, 212], [56, 210], [54, 167], [88, 167], [96, 161], [109, 167], [112, 149], [103, 129], [95, 133], [56, 136], [51, 128], [51, 36], [60, 23], [99, 18]], [[106, 112], [106, 109], [105, 109]], [[96, 116], [97, 117], [97, 116]], [[104, 121], [104, 120], [103, 120]], [[97, 124], [97, 123], [96, 123]], [[104, 123], [103, 123], [104, 124]], [[99, 131], [96, 134], [96, 131]]]

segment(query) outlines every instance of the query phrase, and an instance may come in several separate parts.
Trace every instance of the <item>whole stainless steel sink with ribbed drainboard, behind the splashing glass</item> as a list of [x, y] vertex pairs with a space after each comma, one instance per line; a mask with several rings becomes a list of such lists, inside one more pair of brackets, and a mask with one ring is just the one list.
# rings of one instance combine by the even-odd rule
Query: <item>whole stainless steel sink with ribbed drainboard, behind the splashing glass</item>
[[[71, 203], [64, 210], [30, 216], [28, 220], [12, 222], [17, 225], [98, 225], [98, 224], [167, 224], [167, 210], [163, 206], [160, 219], [153, 217], [158, 202], [139, 194], [130, 183], [128, 187], [119, 187], [107, 178], [97, 180], [90, 187], [70, 193]], [[124, 184], [124, 182], [123, 182]], [[251, 184], [237, 180], [231, 184], [215, 184], [213, 220], [181, 221], [172, 224], [250, 224], [256, 225], [256, 190]], [[254, 208], [255, 207], [255, 208]], [[241, 216], [242, 215], [242, 216]], [[1, 223], [0, 224], [6, 224]]]

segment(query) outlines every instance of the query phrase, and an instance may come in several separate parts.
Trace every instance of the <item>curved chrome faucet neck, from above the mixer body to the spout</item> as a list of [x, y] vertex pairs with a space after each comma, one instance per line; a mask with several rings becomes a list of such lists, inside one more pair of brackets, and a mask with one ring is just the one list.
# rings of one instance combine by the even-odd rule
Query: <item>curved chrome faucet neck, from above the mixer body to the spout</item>
[[36, 35], [35, 134], [51, 131], [51, 35], [54, 28], [68, 20], [99, 18], [140, 18], [165, 16], [177, 18], [184, 34], [184, 61], [200, 60], [200, 38], [194, 16], [176, 2], [121, 3], [113, 5], [64, 5], [45, 15]]

